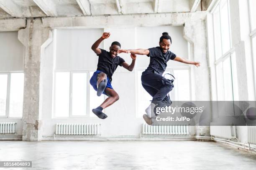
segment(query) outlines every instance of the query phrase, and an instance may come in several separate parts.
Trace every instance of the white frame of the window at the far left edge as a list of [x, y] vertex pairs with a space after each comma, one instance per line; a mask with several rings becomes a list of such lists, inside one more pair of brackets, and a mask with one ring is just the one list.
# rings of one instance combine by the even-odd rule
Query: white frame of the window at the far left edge
[[[5, 115], [0, 116], [0, 118], [20, 119], [23, 117], [23, 109], [22, 109], [22, 116], [19, 116], [19, 117], [10, 116], [10, 81], [11, 81], [12, 73], [23, 73], [24, 75], [24, 71], [0, 72], [0, 75], [7, 75], [7, 89], [6, 89], [7, 94], [6, 94]], [[25, 82], [25, 76], [23, 76], [23, 80]], [[23, 102], [24, 102], [24, 84], [23, 84]]]

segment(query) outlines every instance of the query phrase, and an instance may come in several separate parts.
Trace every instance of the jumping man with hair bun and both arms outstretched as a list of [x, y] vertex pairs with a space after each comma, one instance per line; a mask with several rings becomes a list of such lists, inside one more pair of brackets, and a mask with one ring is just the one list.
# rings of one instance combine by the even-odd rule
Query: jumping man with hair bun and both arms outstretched
[[[173, 80], [168, 80], [162, 76], [167, 66], [166, 63], [169, 60], [175, 60], [186, 64], [192, 64], [197, 67], [200, 66], [200, 62], [189, 61], [182, 57], [177, 57], [173, 52], [169, 51], [171, 44], [172, 38], [169, 36], [168, 32], [163, 32], [159, 40], [159, 47], [119, 50], [119, 53], [134, 53], [150, 57], [149, 65], [141, 75], [143, 88], [153, 97], [151, 104], [145, 110], [146, 114], [143, 115], [143, 119], [148, 125], [151, 125], [152, 119], [156, 118], [156, 106], [164, 107], [172, 104], [168, 94], [174, 87], [172, 84]], [[153, 109], [152, 111], [154, 114], [152, 113], [151, 108]]]

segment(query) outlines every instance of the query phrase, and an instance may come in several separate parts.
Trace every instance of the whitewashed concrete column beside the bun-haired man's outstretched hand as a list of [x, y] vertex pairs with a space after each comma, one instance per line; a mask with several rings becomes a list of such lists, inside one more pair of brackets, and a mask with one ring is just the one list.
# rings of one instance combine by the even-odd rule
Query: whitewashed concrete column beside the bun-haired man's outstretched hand
[[[193, 78], [196, 94], [193, 98], [196, 101], [210, 101], [210, 70], [207, 61], [207, 34], [205, 19], [193, 20], [189, 18], [185, 21], [184, 37], [192, 44], [191, 60], [200, 61], [201, 66], [191, 67], [194, 73]], [[199, 106], [201, 107], [201, 106]], [[195, 126], [195, 135], [210, 136], [210, 126]]]

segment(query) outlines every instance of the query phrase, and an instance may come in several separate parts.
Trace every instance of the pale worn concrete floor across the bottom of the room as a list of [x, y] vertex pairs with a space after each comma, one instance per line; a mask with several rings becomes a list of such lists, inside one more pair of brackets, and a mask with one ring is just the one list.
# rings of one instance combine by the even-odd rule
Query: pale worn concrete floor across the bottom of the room
[[0, 141], [0, 160], [32, 161], [28, 170], [256, 169], [255, 154], [195, 141]]

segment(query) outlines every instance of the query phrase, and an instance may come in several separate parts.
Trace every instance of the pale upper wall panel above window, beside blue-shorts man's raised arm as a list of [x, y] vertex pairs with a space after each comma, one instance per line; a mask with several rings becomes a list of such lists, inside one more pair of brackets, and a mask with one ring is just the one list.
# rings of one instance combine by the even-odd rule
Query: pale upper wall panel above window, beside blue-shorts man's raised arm
[[[103, 29], [59, 29], [56, 31], [56, 70], [95, 70], [98, 57], [92, 44]], [[100, 45], [103, 48], [103, 44]]]

